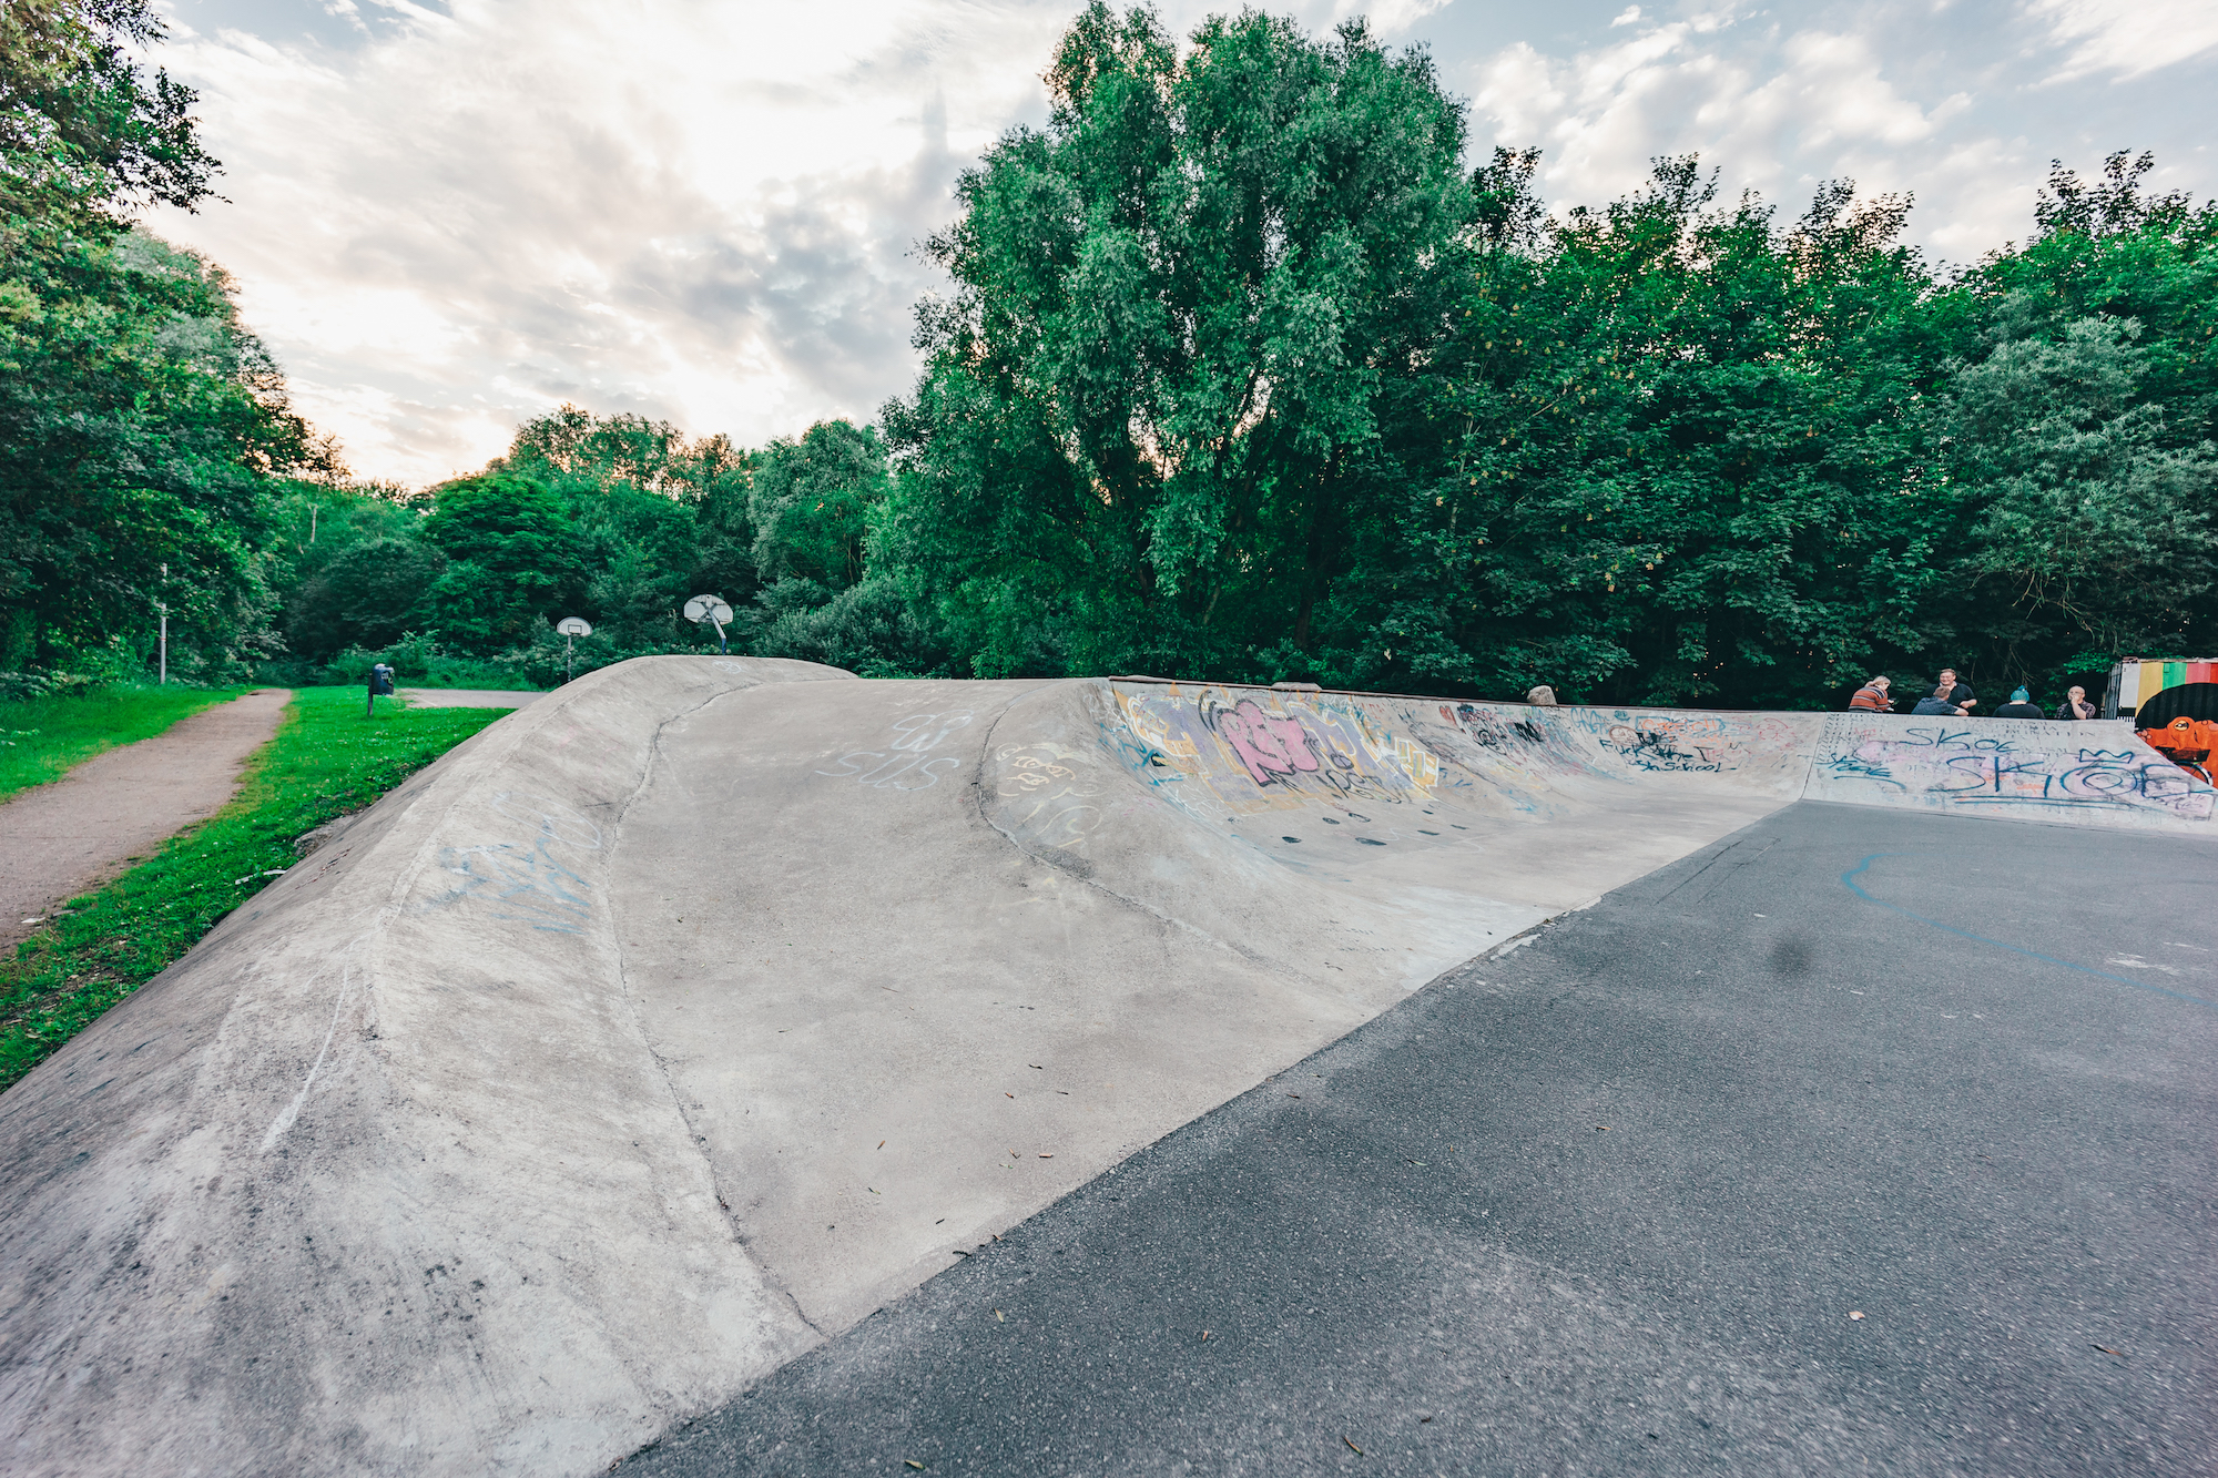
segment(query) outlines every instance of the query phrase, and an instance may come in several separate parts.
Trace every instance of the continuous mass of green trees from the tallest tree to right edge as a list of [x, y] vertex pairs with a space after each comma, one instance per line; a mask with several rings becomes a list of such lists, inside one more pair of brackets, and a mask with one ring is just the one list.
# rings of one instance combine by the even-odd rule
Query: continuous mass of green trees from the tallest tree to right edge
[[[958, 186], [872, 590], [978, 675], [1808, 708], [2207, 650], [2218, 211], [2058, 166], [1941, 282], [1907, 202], [1697, 160], [1548, 213], [1422, 53], [1089, 7]], [[821, 610], [830, 613], [825, 604]], [[781, 606], [792, 650], [869, 624]], [[883, 624], [876, 628], [881, 637]]]

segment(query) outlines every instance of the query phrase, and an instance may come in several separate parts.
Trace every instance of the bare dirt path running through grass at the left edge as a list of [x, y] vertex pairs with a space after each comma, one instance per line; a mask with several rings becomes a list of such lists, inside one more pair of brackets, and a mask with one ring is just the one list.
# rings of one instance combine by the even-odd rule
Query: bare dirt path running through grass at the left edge
[[0, 806], [0, 945], [222, 810], [288, 701], [284, 688], [257, 688]]

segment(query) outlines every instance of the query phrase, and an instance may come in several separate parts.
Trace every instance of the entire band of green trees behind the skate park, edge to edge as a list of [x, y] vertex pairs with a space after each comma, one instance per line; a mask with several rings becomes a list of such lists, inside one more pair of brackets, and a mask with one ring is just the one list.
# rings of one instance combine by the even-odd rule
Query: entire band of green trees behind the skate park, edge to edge
[[129, 666], [164, 601], [186, 670], [546, 681], [563, 615], [588, 668], [712, 641], [690, 595], [867, 675], [1612, 703], [2218, 646], [2218, 209], [2147, 155], [2054, 166], [2023, 244], [1939, 269], [1848, 180], [1781, 213], [1666, 158], [1546, 202], [1362, 22], [1096, 2], [963, 171], [876, 424], [561, 406], [408, 493], [346, 484], [224, 273], [126, 224], [213, 180], [129, 60], [146, 4], [7, 16], [0, 668]]

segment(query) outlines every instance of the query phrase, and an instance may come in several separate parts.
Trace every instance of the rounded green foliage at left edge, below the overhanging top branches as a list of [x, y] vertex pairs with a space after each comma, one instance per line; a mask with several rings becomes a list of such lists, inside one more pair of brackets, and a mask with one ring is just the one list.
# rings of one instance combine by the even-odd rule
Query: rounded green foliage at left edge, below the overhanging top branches
[[[333, 468], [215, 266], [144, 233], [0, 226], [0, 604], [9, 666], [118, 628], [173, 670], [273, 650], [260, 559], [275, 473]], [[162, 566], [169, 575], [162, 575]]]

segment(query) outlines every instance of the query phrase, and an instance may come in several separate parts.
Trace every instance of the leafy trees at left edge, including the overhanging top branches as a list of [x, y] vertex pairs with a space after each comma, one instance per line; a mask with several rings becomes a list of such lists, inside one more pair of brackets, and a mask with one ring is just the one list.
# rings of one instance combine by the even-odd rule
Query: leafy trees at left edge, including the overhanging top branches
[[173, 670], [242, 672], [277, 648], [277, 477], [339, 470], [228, 277], [126, 226], [217, 169], [191, 89], [131, 60], [160, 36], [146, 0], [0, 7], [4, 666], [151, 650], [162, 604]]

